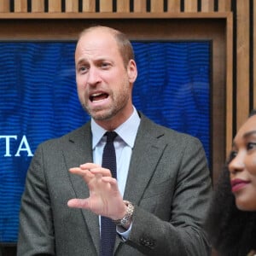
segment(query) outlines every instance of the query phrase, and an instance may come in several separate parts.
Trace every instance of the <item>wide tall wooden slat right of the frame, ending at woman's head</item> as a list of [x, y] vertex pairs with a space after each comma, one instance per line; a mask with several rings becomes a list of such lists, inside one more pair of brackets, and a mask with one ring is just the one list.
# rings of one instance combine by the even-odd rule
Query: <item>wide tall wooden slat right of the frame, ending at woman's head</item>
[[236, 67], [236, 128], [239, 129], [249, 112], [249, 0], [237, 0], [237, 67]]

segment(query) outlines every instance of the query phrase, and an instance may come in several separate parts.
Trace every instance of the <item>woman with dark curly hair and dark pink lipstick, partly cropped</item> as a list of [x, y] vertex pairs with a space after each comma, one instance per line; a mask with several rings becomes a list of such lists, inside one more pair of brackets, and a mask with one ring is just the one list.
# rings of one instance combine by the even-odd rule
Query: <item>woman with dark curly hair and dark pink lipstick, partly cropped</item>
[[236, 133], [206, 230], [219, 255], [256, 256], [256, 110]]

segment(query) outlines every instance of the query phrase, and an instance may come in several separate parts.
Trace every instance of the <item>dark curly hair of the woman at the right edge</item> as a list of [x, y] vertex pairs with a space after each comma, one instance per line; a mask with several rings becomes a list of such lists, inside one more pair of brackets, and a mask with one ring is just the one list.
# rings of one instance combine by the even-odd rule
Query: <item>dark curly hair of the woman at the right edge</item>
[[220, 255], [245, 256], [256, 249], [256, 212], [245, 212], [236, 207], [227, 165], [213, 191], [205, 228], [212, 247]]

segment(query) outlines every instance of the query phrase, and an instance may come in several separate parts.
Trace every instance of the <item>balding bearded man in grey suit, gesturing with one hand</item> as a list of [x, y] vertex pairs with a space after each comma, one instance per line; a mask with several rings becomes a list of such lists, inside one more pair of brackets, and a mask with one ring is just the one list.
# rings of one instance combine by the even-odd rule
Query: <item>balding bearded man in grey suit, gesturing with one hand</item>
[[[80, 34], [75, 65], [91, 120], [38, 146], [21, 201], [18, 255], [99, 255], [100, 216], [116, 224], [113, 255], [210, 255], [202, 230], [211, 194], [205, 152], [195, 137], [156, 125], [133, 106], [129, 40], [90, 27]], [[117, 178], [102, 167], [106, 131], [117, 133]]]

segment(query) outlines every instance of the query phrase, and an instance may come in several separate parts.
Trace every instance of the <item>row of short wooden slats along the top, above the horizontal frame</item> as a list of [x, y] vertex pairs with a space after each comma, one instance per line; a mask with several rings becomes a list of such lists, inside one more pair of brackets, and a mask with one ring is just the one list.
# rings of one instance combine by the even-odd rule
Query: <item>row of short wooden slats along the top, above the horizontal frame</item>
[[[198, 12], [199, 3], [201, 4], [201, 12], [212, 12], [214, 11], [214, 5], [218, 5], [218, 12], [230, 11], [231, 1], [234, 0], [115, 0], [117, 5], [116, 12], [130, 12], [130, 4], [133, 6], [133, 12], [147, 12], [147, 3], [150, 6], [149, 12], [164, 12], [164, 5], [166, 4], [167, 9], [165, 12], [178, 13], [181, 12], [183, 5], [183, 12], [196, 13]], [[245, 0], [247, 2], [248, 0]], [[96, 11], [96, 0], [2, 0], [0, 1], [0, 13], [10, 12], [11, 3], [14, 5], [14, 12], [27, 12], [28, 3], [32, 5], [32, 12], [43, 12], [48, 9], [49, 13], [61, 12], [61, 6], [65, 6], [65, 13], [76, 13], [79, 12], [79, 2], [81, 3], [82, 9], [80, 12], [95, 12]], [[113, 0], [99, 0], [99, 11], [100, 12], [113, 12]], [[239, 0], [238, 0], [239, 2]], [[48, 3], [48, 6], [44, 6]]]

